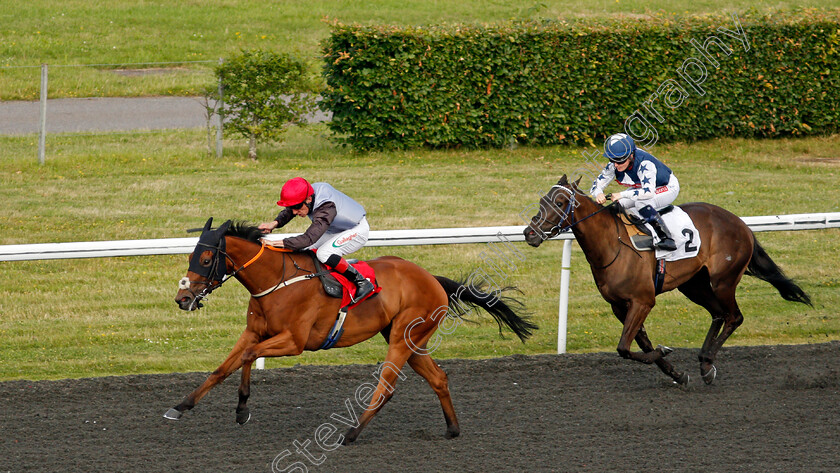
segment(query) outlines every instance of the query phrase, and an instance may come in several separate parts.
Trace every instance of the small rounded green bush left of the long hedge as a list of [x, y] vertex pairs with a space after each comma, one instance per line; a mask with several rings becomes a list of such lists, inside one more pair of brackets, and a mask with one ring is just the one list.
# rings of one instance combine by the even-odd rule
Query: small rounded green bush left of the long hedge
[[[308, 66], [287, 54], [245, 51], [219, 65], [216, 75], [222, 83], [225, 129], [249, 139], [251, 159], [257, 159], [257, 141], [282, 141], [290, 125], [304, 124], [316, 109]], [[217, 90], [208, 95], [218, 99]]]

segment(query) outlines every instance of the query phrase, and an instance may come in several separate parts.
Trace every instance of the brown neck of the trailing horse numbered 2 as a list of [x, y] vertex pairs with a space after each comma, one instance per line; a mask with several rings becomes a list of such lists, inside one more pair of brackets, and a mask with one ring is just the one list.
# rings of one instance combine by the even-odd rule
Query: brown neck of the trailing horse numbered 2
[[578, 223], [572, 226], [572, 233], [593, 266], [609, 263], [619, 244], [615, 217], [610, 210], [601, 209], [589, 197], [578, 196], [578, 206], [575, 208], [575, 221]]

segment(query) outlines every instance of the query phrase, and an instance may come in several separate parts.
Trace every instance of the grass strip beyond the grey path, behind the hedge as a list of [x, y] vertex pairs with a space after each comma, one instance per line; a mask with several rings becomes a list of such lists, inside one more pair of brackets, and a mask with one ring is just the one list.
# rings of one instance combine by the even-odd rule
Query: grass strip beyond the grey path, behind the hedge
[[[0, 100], [37, 99], [41, 64], [52, 65], [53, 98], [198, 94], [213, 83], [219, 58], [243, 49], [285, 51], [318, 67], [334, 20], [424, 25], [803, 7], [840, 0], [9, 1], [0, 3]], [[180, 64], [157, 64], [173, 61]]]

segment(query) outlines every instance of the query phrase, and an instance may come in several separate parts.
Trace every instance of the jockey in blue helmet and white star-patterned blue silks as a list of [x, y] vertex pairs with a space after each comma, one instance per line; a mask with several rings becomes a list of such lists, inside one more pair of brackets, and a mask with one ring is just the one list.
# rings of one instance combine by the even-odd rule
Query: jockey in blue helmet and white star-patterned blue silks
[[604, 188], [615, 179], [626, 190], [611, 194], [628, 214], [649, 223], [656, 232], [656, 247], [677, 249], [659, 210], [670, 205], [680, 193], [677, 176], [653, 155], [636, 148], [633, 138], [618, 133], [604, 143], [604, 157], [610, 162], [592, 183], [589, 194], [599, 204], [606, 202]]

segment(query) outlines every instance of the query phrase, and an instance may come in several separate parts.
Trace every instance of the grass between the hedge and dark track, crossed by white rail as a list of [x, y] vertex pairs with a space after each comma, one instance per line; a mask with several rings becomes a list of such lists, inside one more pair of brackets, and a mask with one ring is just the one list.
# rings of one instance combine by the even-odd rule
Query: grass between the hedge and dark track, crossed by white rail
[[[322, 126], [294, 129], [277, 148], [246, 158], [230, 143], [209, 158], [201, 131], [137, 135], [54, 135], [47, 165], [32, 154], [36, 137], [0, 137], [0, 244], [187, 236], [207, 217], [261, 222], [273, 218], [282, 182], [294, 175], [332, 182], [356, 197], [374, 229], [519, 225], [519, 212], [564, 172], [581, 165], [580, 149], [411, 151], [354, 154], [335, 147]], [[679, 203], [706, 201], [737, 215], [837, 212], [840, 137], [713, 140], [663, 145], [654, 153], [680, 177]], [[152, 151], [150, 151], [152, 150]], [[304, 222], [290, 231], [302, 231]], [[814, 308], [783, 301], [768, 284], [739, 286], [744, 325], [732, 345], [840, 339], [840, 231], [760, 233], [773, 259], [811, 294]], [[556, 348], [561, 243], [525, 255], [509, 283], [541, 326], [523, 345], [500, 339], [495, 324], [462, 325], [444, 337], [442, 358], [551, 353]], [[573, 246], [568, 349], [612, 351], [620, 324], [600, 298]], [[483, 245], [367, 248], [394, 254], [434, 274], [466, 275]], [[210, 371], [244, 325], [247, 294], [236, 283], [205, 308], [179, 310], [173, 297], [186, 256], [0, 263], [0, 379]], [[654, 343], [699, 347], [709, 316], [678, 293], [660, 296], [648, 319]], [[384, 357], [373, 339], [352, 348], [269, 360], [267, 365], [368, 363]], [[617, 356], [617, 355], [616, 355]], [[692, 367], [692, 369], [695, 369]]]

